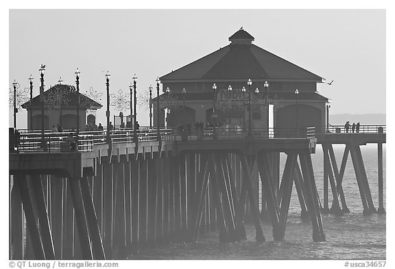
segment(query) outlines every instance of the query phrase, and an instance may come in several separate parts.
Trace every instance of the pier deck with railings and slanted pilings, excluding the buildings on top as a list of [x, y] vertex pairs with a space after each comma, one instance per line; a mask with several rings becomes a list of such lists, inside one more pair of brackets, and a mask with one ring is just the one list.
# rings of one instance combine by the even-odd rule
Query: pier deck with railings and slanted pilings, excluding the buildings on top
[[[322, 211], [311, 165], [317, 143], [333, 164], [331, 143], [349, 145], [364, 214], [375, 212], [355, 142], [382, 145], [385, 132], [315, 134], [310, 128], [295, 136], [296, 131], [278, 128], [254, 129], [248, 136], [227, 131], [213, 128], [188, 136], [160, 129], [158, 140], [156, 129], [146, 128], [137, 140], [124, 129], [111, 132], [110, 144], [103, 132], [80, 132], [75, 151], [67, 132], [46, 133], [47, 151], [40, 148], [40, 133], [21, 132], [18, 146], [10, 144], [10, 259], [121, 259], [156, 244], [193, 242], [211, 231], [219, 231], [221, 242], [237, 242], [245, 238], [248, 220], [256, 241], [264, 242], [271, 239], [261, 227], [263, 214], [272, 223], [271, 238], [284, 240], [294, 183], [312, 238], [323, 241], [321, 213], [328, 198], [324, 194]], [[287, 154], [281, 168], [280, 153]], [[340, 202], [346, 212], [344, 162], [339, 172], [334, 169], [335, 177], [331, 168], [336, 165], [324, 168], [335, 214]], [[382, 172], [380, 180], [379, 213]]]

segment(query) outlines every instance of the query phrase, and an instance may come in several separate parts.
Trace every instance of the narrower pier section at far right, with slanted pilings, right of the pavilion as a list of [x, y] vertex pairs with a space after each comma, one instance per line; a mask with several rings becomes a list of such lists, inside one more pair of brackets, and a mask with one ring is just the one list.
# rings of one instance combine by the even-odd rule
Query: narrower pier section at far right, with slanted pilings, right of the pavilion
[[[317, 143], [322, 145], [324, 152], [324, 205], [322, 212], [341, 215], [350, 212], [346, 197], [342, 189], [344, 170], [346, 168], [348, 155], [351, 155], [352, 165], [355, 171], [361, 203], [363, 205], [363, 214], [385, 214], [383, 206], [383, 143], [386, 142], [385, 126], [379, 125], [362, 125], [361, 130], [357, 133], [349, 130], [347, 132], [343, 126], [337, 125], [327, 129], [327, 133], [317, 135]], [[340, 168], [337, 166], [337, 160], [333, 152], [333, 144], [344, 144], [344, 154]], [[368, 177], [366, 176], [365, 166], [361, 154], [361, 146], [366, 144], [377, 144], [377, 162], [378, 162], [378, 183], [379, 183], [379, 207], [376, 209], [370, 194]], [[328, 205], [328, 182], [331, 185], [333, 203], [331, 208]]]

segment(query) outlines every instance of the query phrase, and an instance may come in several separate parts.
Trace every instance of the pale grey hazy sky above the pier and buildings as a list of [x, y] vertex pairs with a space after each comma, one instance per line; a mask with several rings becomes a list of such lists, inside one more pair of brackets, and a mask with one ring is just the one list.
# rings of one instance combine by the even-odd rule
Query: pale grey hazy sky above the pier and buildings
[[[59, 77], [74, 85], [78, 67], [82, 92], [105, 94], [107, 70], [110, 92], [128, 92], [134, 73], [144, 92], [156, 77], [229, 44], [241, 26], [257, 46], [333, 79], [318, 85], [331, 114], [385, 113], [385, 10], [10, 10], [8, 87], [14, 79], [27, 87], [32, 74], [36, 96], [46, 64], [46, 89]], [[104, 101], [97, 123], [106, 122]], [[26, 115], [19, 112], [19, 128]], [[138, 120], [148, 124], [143, 108]]]

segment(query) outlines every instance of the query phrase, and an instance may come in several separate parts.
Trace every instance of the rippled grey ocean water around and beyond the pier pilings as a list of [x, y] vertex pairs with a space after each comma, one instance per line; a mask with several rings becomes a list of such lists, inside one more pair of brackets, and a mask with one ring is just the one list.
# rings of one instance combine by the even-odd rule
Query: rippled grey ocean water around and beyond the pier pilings
[[[344, 146], [335, 146], [337, 166], [342, 162]], [[361, 146], [363, 162], [375, 207], [378, 207], [377, 148]], [[320, 146], [312, 155], [315, 182], [323, 203], [323, 154]], [[285, 155], [280, 156], [280, 167]], [[385, 145], [383, 146], [383, 181], [385, 207]], [[246, 225], [247, 240], [237, 243], [220, 243], [218, 233], [203, 235], [197, 242], [170, 244], [143, 250], [128, 259], [385, 259], [385, 215], [363, 216], [363, 207], [352, 160], [349, 155], [344, 173], [343, 189], [350, 213], [344, 216], [322, 214], [325, 242], [313, 242], [309, 220], [300, 218], [300, 205], [296, 189], [292, 190], [285, 240], [274, 242], [270, 222], [262, 222], [266, 242], [256, 243], [255, 230]], [[331, 207], [331, 192], [329, 192]]]

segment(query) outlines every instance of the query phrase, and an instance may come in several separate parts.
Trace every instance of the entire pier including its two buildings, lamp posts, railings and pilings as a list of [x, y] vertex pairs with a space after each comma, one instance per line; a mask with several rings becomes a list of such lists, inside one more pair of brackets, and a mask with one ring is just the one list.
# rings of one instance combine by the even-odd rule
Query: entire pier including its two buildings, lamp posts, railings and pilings
[[[30, 99], [20, 104], [27, 129], [16, 126], [14, 81], [10, 259], [125, 259], [212, 232], [224, 244], [241, 242], [247, 224], [258, 243], [283, 241], [292, 192], [300, 217], [311, 223], [311, 240], [324, 242], [322, 214], [350, 211], [342, 185], [349, 155], [363, 214], [385, 214], [385, 125], [330, 125], [330, 101], [318, 92], [323, 77], [252, 44], [243, 27], [228, 40], [158, 77], [156, 97], [149, 86], [139, 99], [149, 110], [149, 127], [137, 121], [144, 114], [137, 116], [136, 74], [129, 92], [118, 94], [110, 93], [110, 72], [102, 77], [104, 123], [96, 118], [102, 93], [80, 92], [80, 78], [88, 85], [84, 73], [77, 68], [75, 86], [60, 77], [45, 90], [41, 64], [40, 94], [33, 98], [31, 76]], [[322, 179], [311, 160], [317, 144]], [[334, 144], [345, 145], [341, 161]], [[377, 208], [361, 154], [366, 144], [377, 144]], [[321, 180], [323, 193], [316, 185]], [[272, 229], [264, 231], [262, 222]]]

